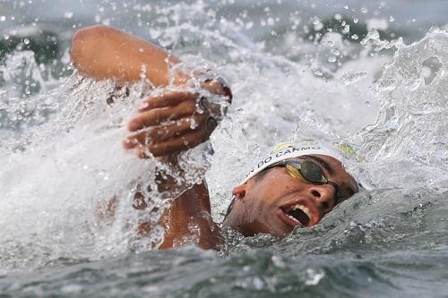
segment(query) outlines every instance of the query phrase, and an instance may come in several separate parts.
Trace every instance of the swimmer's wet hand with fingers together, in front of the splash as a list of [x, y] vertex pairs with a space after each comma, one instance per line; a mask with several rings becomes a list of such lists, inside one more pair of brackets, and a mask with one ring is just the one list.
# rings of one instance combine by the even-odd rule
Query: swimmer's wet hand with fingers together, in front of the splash
[[154, 92], [128, 123], [133, 134], [125, 139], [125, 149], [134, 149], [140, 158], [161, 157], [208, 140], [222, 115], [205, 100], [193, 89]]

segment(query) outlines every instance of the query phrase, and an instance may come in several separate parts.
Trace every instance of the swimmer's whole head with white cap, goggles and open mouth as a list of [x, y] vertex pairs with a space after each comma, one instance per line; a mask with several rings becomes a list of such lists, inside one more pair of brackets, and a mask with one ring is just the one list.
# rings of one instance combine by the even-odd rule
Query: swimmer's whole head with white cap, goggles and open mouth
[[314, 226], [342, 200], [358, 192], [340, 149], [323, 143], [283, 143], [233, 189], [224, 224], [246, 236], [284, 236]]

